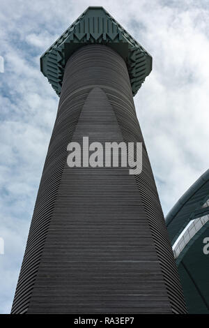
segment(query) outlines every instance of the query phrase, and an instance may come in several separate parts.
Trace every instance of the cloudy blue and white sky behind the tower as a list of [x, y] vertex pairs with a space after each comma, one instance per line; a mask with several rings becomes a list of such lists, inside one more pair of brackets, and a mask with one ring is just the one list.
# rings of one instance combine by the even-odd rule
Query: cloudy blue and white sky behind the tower
[[[88, 7], [104, 1], [1, 0], [0, 313], [9, 313], [59, 98], [39, 58]], [[208, 0], [106, 0], [153, 56], [134, 97], [166, 215], [208, 169]]]

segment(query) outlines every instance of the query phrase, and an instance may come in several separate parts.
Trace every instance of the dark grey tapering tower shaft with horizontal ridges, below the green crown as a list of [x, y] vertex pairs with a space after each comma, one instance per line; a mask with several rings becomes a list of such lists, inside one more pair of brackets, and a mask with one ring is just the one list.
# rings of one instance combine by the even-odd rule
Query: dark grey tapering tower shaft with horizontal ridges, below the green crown
[[[88, 9], [88, 22], [100, 18], [95, 13], [101, 10]], [[100, 19], [95, 21], [99, 27]], [[85, 31], [83, 23], [82, 28]], [[119, 32], [116, 36], [122, 38]], [[65, 55], [70, 53], [70, 45], [63, 49]], [[51, 57], [49, 53], [47, 61], [42, 59], [47, 74]], [[79, 45], [65, 63], [12, 313], [186, 311], [134, 108], [137, 82], [131, 82], [131, 70], [107, 44]], [[81, 144], [83, 137], [103, 145], [143, 142], [142, 172], [130, 175], [128, 167], [68, 167], [68, 144]]]

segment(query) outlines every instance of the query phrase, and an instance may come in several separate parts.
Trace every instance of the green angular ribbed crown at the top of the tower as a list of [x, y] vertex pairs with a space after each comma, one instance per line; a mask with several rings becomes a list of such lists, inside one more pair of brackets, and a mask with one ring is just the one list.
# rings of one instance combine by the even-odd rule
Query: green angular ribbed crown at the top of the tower
[[60, 95], [65, 64], [73, 52], [89, 44], [107, 45], [125, 60], [133, 96], [152, 70], [152, 57], [102, 7], [84, 13], [40, 57], [40, 70]]

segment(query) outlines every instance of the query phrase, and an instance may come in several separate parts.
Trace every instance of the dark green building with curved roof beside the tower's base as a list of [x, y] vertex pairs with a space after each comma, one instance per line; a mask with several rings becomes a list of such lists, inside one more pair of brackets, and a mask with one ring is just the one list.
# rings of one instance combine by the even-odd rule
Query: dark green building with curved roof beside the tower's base
[[169, 211], [166, 223], [188, 312], [209, 314], [209, 170]]

